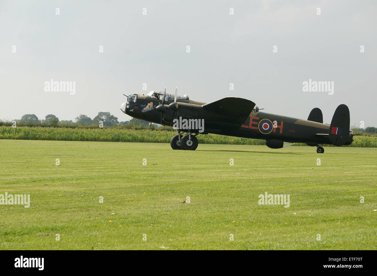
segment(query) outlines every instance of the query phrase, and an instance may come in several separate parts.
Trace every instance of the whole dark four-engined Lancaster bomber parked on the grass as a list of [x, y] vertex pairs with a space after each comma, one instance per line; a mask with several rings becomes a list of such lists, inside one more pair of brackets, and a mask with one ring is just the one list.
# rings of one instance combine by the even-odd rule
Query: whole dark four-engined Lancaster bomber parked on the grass
[[[351, 145], [354, 133], [349, 128], [349, 109], [339, 105], [331, 124], [323, 124], [322, 111], [311, 110], [308, 119], [262, 112], [254, 102], [247, 99], [226, 97], [215, 102], [192, 101], [188, 95], [178, 96], [165, 91], [151, 91], [147, 95], [127, 96], [121, 105], [123, 113], [153, 122], [174, 126], [176, 122], [200, 120], [204, 124], [183, 124], [172, 137], [172, 149], [195, 150], [199, 134], [215, 133], [227, 136], [266, 140], [269, 148], [277, 149], [306, 143], [316, 146], [317, 153], [323, 153], [320, 145]], [[198, 126], [201, 125], [201, 128]], [[189, 127], [188, 127], [189, 126]]]

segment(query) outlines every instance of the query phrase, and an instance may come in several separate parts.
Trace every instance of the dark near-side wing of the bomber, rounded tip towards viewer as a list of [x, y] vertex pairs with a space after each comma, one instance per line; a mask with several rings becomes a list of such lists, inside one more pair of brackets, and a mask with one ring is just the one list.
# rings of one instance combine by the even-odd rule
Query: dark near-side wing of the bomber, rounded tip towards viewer
[[250, 115], [255, 103], [247, 99], [226, 97], [215, 102], [202, 105], [203, 108], [229, 116], [231, 122], [242, 124]]

